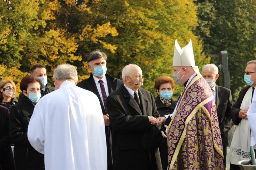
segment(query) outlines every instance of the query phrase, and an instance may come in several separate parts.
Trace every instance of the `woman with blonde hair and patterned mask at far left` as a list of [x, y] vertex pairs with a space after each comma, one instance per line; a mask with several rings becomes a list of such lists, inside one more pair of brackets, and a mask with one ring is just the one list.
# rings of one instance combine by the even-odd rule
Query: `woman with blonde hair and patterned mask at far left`
[[17, 104], [15, 98], [16, 86], [11, 80], [3, 80], [0, 82], [0, 105], [7, 107], [9, 110], [12, 105]]

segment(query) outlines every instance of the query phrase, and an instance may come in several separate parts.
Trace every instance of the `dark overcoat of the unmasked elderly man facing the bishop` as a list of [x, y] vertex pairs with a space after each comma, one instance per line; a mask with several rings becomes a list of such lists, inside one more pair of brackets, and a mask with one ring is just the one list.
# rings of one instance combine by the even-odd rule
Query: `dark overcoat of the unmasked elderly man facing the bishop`
[[[159, 114], [151, 92], [139, 88], [138, 94], [141, 109], [124, 84], [107, 98], [113, 135], [112, 154], [114, 170], [152, 169], [151, 162], [149, 161], [150, 151], [143, 148], [142, 135], [152, 126], [148, 116], [157, 118]], [[161, 164], [160, 157], [155, 159], [158, 159], [158, 163]]]

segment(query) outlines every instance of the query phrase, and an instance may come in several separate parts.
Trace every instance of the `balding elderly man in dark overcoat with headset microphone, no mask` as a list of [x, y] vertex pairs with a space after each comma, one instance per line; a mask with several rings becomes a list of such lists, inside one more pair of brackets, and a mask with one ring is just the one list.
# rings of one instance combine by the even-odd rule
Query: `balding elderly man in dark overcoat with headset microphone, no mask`
[[161, 170], [157, 149], [162, 133], [156, 125], [159, 117], [151, 92], [143, 85], [142, 71], [137, 65], [127, 65], [122, 71], [124, 84], [107, 98], [113, 130], [113, 169]]

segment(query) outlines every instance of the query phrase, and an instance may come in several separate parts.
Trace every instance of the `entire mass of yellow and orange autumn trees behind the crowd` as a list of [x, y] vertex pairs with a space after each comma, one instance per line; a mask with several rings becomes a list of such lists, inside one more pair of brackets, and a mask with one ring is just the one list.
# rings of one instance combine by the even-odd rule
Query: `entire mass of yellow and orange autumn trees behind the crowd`
[[[82, 80], [90, 74], [87, 55], [101, 49], [108, 55], [108, 73], [121, 78], [125, 65], [138, 64], [143, 88], [156, 96], [156, 78], [172, 76], [175, 39], [181, 47], [192, 39], [199, 68], [210, 59], [192, 32], [197, 13], [191, 0], [12, 0], [1, 1], [0, 10], [0, 71], [14, 68], [20, 77], [39, 63], [51, 83], [56, 66], [71, 63]], [[174, 98], [182, 88], [175, 87]]]

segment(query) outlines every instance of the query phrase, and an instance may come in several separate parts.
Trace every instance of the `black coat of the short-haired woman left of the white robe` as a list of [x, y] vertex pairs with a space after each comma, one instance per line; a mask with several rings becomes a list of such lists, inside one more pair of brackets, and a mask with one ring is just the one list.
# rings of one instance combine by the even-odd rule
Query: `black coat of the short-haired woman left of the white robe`
[[34, 104], [24, 96], [10, 110], [9, 132], [14, 143], [16, 170], [44, 169], [44, 155], [37, 152], [28, 141], [28, 123], [34, 111]]

